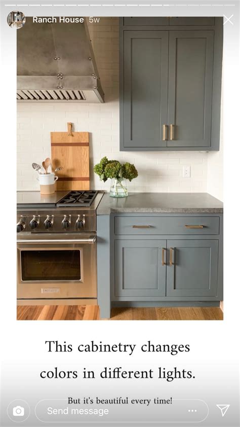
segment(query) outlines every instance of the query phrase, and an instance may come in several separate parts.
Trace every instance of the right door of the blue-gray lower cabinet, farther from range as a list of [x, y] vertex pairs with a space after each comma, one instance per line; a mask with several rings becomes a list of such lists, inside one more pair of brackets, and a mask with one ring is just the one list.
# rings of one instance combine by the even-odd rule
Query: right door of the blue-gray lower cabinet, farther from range
[[167, 297], [217, 295], [218, 240], [168, 240], [167, 245]]

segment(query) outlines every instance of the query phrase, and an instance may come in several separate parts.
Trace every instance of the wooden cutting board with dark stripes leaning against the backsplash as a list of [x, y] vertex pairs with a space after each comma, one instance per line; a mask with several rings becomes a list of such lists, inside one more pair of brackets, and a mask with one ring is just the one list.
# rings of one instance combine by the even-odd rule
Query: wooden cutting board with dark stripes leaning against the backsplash
[[57, 190], [90, 190], [89, 132], [51, 132], [52, 170], [56, 172]]

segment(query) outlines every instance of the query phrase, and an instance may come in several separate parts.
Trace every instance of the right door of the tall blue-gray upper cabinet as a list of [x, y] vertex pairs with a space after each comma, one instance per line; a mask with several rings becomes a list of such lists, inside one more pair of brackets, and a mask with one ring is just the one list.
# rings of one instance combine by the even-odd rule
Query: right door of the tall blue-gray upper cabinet
[[[168, 147], [210, 147], [213, 30], [170, 31]], [[172, 136], [172, 137], [171, 137]]]

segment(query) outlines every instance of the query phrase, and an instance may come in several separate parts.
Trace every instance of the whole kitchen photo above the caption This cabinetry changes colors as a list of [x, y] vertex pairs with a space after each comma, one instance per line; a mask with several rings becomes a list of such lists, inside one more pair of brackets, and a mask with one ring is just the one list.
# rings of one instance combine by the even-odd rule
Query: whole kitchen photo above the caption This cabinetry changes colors
[[16, 31], [17, 319], [223, 320], [223, 18], [63, 18]]

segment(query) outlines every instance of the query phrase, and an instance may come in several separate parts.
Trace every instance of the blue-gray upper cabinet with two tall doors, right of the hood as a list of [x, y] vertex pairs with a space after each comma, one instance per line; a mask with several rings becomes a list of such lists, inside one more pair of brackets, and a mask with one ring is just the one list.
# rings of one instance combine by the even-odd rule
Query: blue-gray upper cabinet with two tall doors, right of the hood
[[151, 19], [120, 18], [120, 150], [219, 150], [223, 19]]

